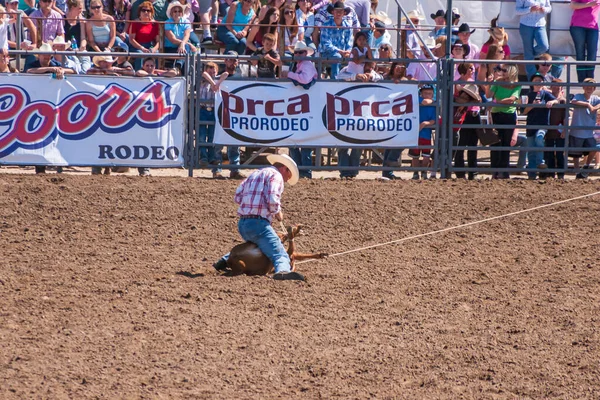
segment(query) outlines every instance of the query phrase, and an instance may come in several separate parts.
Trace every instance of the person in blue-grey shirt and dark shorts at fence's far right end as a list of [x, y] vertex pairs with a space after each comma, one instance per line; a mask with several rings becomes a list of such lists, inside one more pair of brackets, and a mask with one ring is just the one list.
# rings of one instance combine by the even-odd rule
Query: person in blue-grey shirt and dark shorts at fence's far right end
[[584, 150], [583, 152], [580, 150], [569, 151], [569, 156], [576, 158], [577, 160], [582, 155], [587, 156], [583, 169], [581, 169], [576, 176], [577, 179], [588, 178], [590, 162], [596, 155], [594, 127], [596, 126], [596, 117], [598, 110], [600, 109], [600, 97], [594, 94], [596, 91], [596, 81], [592, 78], [585, 78], [583, 83], [594, 85], [584, 86], [583, 93], [577, 93], [573, 97], [573, 100], [571, 100], [571, 104], [575, 106], [575, 108], [573, 108], [571, 126], [581, 128], [572, 128], [569, 132], [569, 147], [589, 148], [590, 150]]

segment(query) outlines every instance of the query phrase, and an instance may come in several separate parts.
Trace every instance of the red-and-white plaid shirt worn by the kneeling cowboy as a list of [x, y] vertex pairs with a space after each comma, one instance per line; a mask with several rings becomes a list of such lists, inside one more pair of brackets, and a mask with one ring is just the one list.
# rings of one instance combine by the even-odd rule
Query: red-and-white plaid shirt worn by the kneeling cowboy
[[258, 215], [269, 222], [281, 210], [283, 176], [275, 167], [253, 172], [235, 191], [238, 215]]

